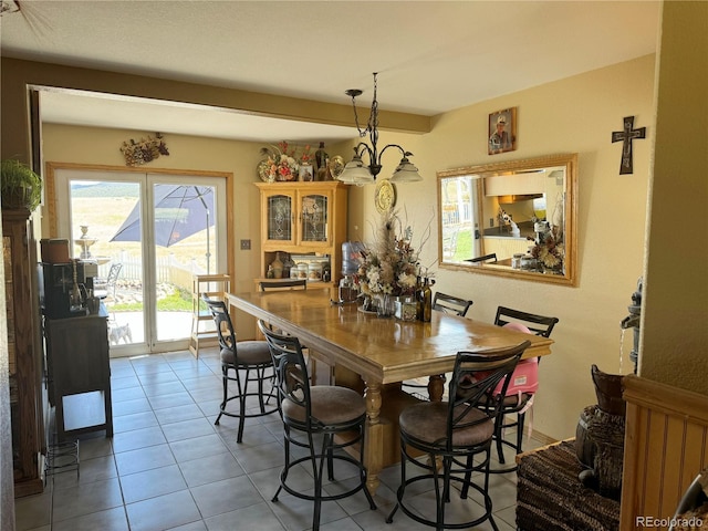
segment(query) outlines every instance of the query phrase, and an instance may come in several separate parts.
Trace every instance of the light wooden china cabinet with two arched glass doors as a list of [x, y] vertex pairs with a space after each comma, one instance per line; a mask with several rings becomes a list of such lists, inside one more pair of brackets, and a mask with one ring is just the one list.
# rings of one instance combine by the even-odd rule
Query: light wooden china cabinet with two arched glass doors
[[[327, 254], [336, 287], [346, 241], [347, 187], [339, 180], [256, 183], [261, 195], [261, 277], [280, 253]], [[257, 279], [259, 280], [259, 279]]]

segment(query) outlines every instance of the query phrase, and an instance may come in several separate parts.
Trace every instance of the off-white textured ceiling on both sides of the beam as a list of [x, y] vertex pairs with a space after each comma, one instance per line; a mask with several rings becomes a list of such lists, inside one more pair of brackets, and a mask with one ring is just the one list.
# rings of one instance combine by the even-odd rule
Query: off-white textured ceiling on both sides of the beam
[[[376, 71], [382, 110], [427, 116], [653, 53], [660, 8], [658, 1], [19, 6], [1, 19], [3, 56], [340, 104], [348, 104], [346, 88], [357, 87], [364, 90], [363, 106], [371, 103]], [[45, 96], [43, 117], [51, 122], [259, 140], [273, 134], [298, 139], [283, 131], [292, 125], [301, 137], [352, 137], [346, 127], [273, 127], [272, 121], [195, 106]]]

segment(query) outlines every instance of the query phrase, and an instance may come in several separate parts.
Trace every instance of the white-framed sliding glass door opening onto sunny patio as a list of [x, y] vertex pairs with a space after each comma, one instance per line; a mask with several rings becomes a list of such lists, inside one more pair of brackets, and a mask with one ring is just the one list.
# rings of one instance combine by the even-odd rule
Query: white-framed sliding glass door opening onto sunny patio
[[58, 236], [98, 264], [111, 355], [187, 348], [192, 275], [226, 271], [226, 179], [60, 169]]

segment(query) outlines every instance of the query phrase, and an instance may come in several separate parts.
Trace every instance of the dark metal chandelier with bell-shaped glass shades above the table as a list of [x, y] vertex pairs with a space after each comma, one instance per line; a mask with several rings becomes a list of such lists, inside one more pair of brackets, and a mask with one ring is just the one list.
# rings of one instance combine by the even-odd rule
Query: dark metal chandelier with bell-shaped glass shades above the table
[[[368, 134], [371, 146], [364, 142], [360, 142], [356, 147], [354, 147], [354, 157], [350, 160], [344, 169], [337, 177], [339, 180], [346, 183], [347, 185], [367, 185], [374, 183], [376, 180], [376, 176], [381, 173], [382, 164], [381, 159], [384, 155], [384, 152], [389, 147], [395, 147], [400, 150], [403, 158], [398, 166], [394, 170], [394, 174], [391, 176], [392, 183], [414, 183], [417, 180], [423, 180], [420, 174], [418, 173], [418, 168], [416, 168], [408, 157], [413, 155], [410, 152], [406, 152], [398, 144], [387, 144], [384, 148], [378, 152], [376, 144], [378, 143], [378, 102], [376, 101], [376, 75], [374, 72], [374, 101], [372, 102], [372, 113], [368, 117], [368, 124], [365, 129], [358, 124], [358, 115], [356, 113], [356, 96], [362, 95], [362, 91], [358, 88], [350, 88], [345, 91], [347, 96], [352, 97], [352, 107], [354, 107], [354, 119], [356, 122], [356, 128], [358, 129], [358, 136], [364, 137]], [[368, 166], [364, 166], [364, 162], [362, 157], [366, 154], [368, 156]]]

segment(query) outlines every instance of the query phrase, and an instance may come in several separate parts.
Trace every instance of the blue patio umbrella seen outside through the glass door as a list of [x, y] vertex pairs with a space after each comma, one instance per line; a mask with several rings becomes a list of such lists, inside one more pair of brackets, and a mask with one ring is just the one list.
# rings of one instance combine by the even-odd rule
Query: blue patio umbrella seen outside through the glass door
[[[155, 185], [155, 243], [174, 246], [207, 230], [207, 274], [209, 273], [209, 227], [214, 225], [214, 188], [206, 186]], [[140, 241], [140, 200], [111, 241]]]

